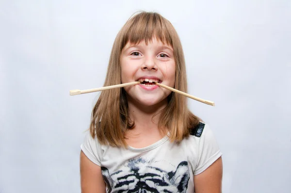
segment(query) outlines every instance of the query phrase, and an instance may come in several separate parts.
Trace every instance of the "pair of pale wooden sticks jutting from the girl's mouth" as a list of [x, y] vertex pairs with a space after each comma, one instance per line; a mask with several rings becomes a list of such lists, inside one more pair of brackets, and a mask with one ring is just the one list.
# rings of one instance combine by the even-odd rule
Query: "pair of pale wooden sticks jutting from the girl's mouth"
[[[88, 90], [70, 90], [70, 96], [74, 96], [74, 95], [81, 95], [81, 94], [86, 94], [86, 93], [93, 93], [93, 92], [98, 92], [98, 91], [104, 91], [104, 90], [109, 90], [109, 89], [113, 89], [113, 88], [121, 88], [121, 87], [125, 87], [125, 86], [130, 86], [130, 85], [135, 85], [135, 84], [140, 84], [140, 81], [135, 81], [135, 82], [129, 82], [129, 83], [123, 83], [123, 84], [117, 84], [117, 85], [113, 85], [113, 86], [105, 86], [105, 87], [101, 87], [101, 88], [94, 88], [94, 89], [88, 89]], [[189, 95], [187, 93], [184, 93], [182, 91], [179, 91], [177, 89], [171, 88], [169, 86], [163, 85], [161, 83], [157, 83], [155, 82], [156, 85], [161, 86], [165, 89], [168, 89], [170, 91], [176, 92], [178, 94], [181, 94], [183, 96], [187, 96], [189, 98], [192, 98], [194, 100], [197, 100], [199, 102], [211, 105], [211, 106], [215, 106], [214, 102], [209, 101], [209, 100], [204, 100], [202, 98], [198, 98], [196, 96], [192, 96]]]

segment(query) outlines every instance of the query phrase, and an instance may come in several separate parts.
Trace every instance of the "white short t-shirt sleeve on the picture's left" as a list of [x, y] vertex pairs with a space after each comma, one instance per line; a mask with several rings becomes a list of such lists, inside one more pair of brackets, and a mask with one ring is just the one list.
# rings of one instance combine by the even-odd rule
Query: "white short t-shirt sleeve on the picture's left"
[[97, 138], [92, 138], [90, 131], [86, 131], [81, 150], [89, 160], [97, 165], [101, 165], [100, 161], [100, 144]]

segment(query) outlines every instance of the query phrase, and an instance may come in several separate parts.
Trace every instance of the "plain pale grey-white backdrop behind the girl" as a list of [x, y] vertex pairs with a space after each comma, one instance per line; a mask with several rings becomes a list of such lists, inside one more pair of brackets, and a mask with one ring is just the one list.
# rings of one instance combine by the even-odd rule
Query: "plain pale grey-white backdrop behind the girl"
[[157, 11], [185, 53], [190, 109], [223, 193], [291, 193], [290, 0], [0, 0], [0, 193], [80, 193], [79, 155], [114, 38]]

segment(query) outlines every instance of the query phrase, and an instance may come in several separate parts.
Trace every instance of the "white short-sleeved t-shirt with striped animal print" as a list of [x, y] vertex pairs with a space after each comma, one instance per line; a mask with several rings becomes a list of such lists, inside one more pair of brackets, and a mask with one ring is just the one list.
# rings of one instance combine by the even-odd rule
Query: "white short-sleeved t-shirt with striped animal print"
[[87, 132], [81, 150], [101, 166], [106, 193], [194, 193], [194, 175], [222, 156], [202, 122], [180, 143], [165, 136], [144, 148], [100, 145]]

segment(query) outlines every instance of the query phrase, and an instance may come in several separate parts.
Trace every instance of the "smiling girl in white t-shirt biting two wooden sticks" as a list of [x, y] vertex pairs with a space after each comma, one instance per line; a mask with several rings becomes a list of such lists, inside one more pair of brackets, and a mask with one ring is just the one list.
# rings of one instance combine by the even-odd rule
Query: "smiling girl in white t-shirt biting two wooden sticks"
[[221, 193], [222, 153], [187, 108], [182, 46], [157, 13], [132, 16], [114, 41], [104, 86], [81, 145], [82, 193]]

